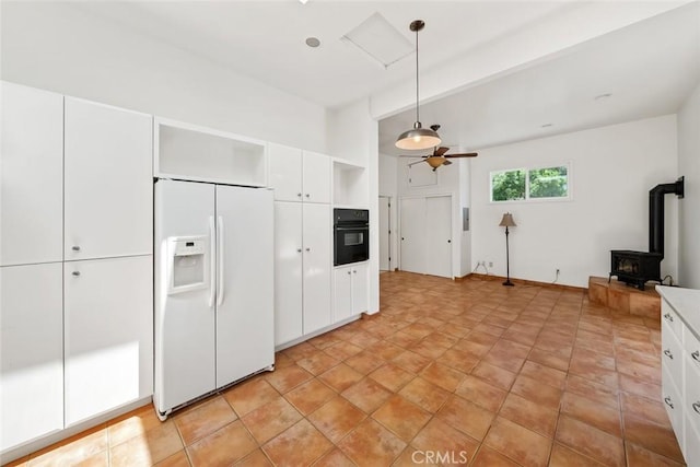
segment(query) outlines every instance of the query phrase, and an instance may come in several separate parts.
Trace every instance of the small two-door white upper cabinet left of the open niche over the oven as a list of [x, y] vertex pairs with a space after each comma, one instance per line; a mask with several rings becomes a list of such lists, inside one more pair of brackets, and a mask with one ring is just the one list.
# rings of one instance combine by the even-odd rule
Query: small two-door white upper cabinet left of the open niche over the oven
[[330, 157], [268, 144], [270, 186], [277, 201], [330, 202]]

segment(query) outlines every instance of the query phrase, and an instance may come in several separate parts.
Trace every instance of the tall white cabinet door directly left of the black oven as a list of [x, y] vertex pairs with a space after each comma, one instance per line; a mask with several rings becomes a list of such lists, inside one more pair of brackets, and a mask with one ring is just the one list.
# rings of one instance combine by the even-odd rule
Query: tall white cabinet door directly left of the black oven
[[304, 334], [330, 324], [331, 215], [329, 205], [303, 205]]

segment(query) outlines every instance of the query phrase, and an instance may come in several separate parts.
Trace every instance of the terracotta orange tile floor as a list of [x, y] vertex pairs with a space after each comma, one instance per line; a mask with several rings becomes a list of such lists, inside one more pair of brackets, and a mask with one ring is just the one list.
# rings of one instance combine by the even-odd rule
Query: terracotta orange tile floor
[[392, 272], [382, 313], [161, 423], [150, 406], [16, 465], [677, 466], [660, 323], [583, 292]]

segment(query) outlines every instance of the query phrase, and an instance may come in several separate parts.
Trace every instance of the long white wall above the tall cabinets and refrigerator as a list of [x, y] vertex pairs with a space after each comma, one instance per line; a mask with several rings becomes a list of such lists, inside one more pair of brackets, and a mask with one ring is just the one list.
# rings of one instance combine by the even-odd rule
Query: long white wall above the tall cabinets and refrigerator
[[316, 104], [65, 2], [2, 2], [1, 78], [326, 152]]

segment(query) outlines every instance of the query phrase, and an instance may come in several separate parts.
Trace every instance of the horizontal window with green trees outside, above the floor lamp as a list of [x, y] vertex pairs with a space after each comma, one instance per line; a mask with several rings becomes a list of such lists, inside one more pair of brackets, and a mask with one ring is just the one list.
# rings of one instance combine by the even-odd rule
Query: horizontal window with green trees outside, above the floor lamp
[[491, 201], [569, 199], [569, 166], [491, 172]]

